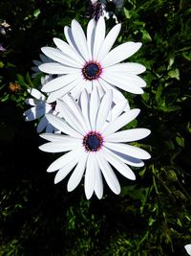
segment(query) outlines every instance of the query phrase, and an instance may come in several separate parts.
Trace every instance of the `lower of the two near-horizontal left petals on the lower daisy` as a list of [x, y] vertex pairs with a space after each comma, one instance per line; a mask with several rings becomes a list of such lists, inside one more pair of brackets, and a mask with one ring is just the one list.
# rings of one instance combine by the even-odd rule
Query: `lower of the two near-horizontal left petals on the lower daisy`
[[82, 143], [80, 140], [69, 140], [66, 142], [54, 141], [43, 144], [39, 147], [41, 151], [46, 152], [64, 152], [72, 151], [74, 149], [80, 148]]

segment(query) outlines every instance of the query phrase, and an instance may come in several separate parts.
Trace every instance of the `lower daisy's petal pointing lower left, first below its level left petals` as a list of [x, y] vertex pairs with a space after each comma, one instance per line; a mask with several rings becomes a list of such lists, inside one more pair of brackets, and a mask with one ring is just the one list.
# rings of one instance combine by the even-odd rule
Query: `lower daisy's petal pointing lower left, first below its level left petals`
[[65, 153], [64, 155], [60, 156], [57, 158], [47, 169], [48, 173], [52, 173], [65, 165], [67, 165], [70, 162], [74, 162], [74, 159], [79, 159], [80, 156], [82, 155], [82, 150], [81, 149], [76, 149], [74, 151], [69, 151]]

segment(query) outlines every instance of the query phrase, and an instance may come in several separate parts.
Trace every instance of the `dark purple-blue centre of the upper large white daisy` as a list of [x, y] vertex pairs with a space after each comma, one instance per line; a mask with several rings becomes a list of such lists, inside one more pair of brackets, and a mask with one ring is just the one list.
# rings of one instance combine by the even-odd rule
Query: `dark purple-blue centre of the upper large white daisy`
[[99, 78], [102, 68], [96, 61], [87, 62], [82, 68], [82, 74], [86, 80], [92, 81]]

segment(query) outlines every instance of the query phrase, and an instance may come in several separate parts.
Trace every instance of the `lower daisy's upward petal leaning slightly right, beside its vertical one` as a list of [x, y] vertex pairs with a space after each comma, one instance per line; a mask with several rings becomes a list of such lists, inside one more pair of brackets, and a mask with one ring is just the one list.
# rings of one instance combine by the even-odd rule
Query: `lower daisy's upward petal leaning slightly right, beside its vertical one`
[[101, 104], [98, 108], [97, 118], [96, 118], [96, 130], [102, 128], [105, 123], [108, 114], [111, 110], [112, 100], [113, 100], [112, 90], [108, 90], [101, 100]]

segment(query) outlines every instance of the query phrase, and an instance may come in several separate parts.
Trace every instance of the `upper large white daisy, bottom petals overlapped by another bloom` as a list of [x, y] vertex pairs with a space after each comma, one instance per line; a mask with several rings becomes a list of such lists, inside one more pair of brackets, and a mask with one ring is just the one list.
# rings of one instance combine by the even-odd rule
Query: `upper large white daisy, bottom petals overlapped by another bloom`
[[68, 43], [53, 38], [57, 49], [42, 48], [42, 52], [53, 62], [41, 64], [39, 69], [47, 74], [59, 75], [42, 87], [42, 91], [50, 93], [48, 102], [54, 102], [68, 92], [77, 99], [84, 89], [92, 92], [95, 87], [98, 92], [115, 90], [115, 102], [124, 99], [117, 88], [135, 94], [143, 93], [142, 87], [146, 83], [138, 74], [144, 72], [145, 67], [134, 62], [119, 63], [134, 55], [141, 43], [126, 42], [111, 50], [120, 28], [121, 25], [117, 24], [106, 35], [105, 20], [100, 17], [97, 22], [92, 19], [88, 23], [86, 36], [79, 23], [73, 20], [71, 28], [64, 28]]

